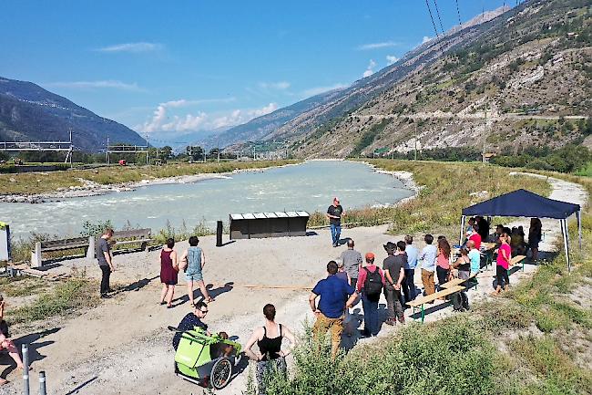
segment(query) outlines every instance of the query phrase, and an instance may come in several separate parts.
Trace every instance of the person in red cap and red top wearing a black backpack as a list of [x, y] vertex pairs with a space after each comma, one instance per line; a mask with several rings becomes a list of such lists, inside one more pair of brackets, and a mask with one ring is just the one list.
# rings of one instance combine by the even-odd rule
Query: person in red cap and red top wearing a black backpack
[[384, 286], [383, 271], [374, 265], [374, 254], [366, 254], [366, 265], [360, 269], [358, 275], [358, 293], [362, 293], [362, 308], [364, 329], [362, 336], [368, 338], [378, 335], [378, 300], [381, 298]]

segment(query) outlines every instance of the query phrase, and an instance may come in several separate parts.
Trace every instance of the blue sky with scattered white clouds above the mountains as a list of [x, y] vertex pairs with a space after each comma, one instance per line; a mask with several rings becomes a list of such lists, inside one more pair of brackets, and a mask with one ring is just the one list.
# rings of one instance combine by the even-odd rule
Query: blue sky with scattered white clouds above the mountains
[[[458, 0], [463, 21], [504, 4]], [[458, 24], [454, 0], [437, 5], [444, 30]], [[434, 36], [424, 0], [2, 0], [0, 26], [0, 77], [155, 145], [346, 87]]]

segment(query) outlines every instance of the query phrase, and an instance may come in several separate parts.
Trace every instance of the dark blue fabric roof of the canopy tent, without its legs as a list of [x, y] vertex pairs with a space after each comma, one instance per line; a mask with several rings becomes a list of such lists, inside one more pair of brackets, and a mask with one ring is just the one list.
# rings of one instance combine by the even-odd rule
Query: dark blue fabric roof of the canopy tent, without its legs
[[579, 204], [548, 199], [519, 189], [463, 209], [463, 215], [564, 219], [579, 211]]

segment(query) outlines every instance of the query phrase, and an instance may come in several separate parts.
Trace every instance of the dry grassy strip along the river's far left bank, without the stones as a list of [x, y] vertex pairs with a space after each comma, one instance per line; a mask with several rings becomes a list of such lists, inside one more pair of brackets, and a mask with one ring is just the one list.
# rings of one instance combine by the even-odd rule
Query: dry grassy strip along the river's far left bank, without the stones
[[0, 194], [55, 192], [70, 186], [82, 186], [82, 180], [107, 185], [199, 173], [264, 169], [291, 163], [298, 163], [298, 161], [227, 161], [220, 163], [174, 163], [163, 166], [116, 165], [90, 170], [0, 174]]

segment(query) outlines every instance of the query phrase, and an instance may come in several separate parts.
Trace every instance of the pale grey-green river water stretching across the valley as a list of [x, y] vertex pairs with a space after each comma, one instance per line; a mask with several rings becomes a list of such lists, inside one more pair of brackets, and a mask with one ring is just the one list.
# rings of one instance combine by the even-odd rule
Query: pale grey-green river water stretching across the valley
[[392, 175], [374, 172], [364, 163], [307, 161], [264, 172], [241, 172], [228, 179], [148, 185], [135, 191], [65, 199], [39, 204], [0, 203], [0, 221], [11, 234], [30, 232], [78, 235], [84, 221], [111, 220], [116, 229], [130, 223], [153, 232], [183, 221], [189, 229], [205, 221], [228, 222], [230, 213], [278, 211], [325, 212], [332, 196], [343, 209], [392, 204], [413, 192]]

